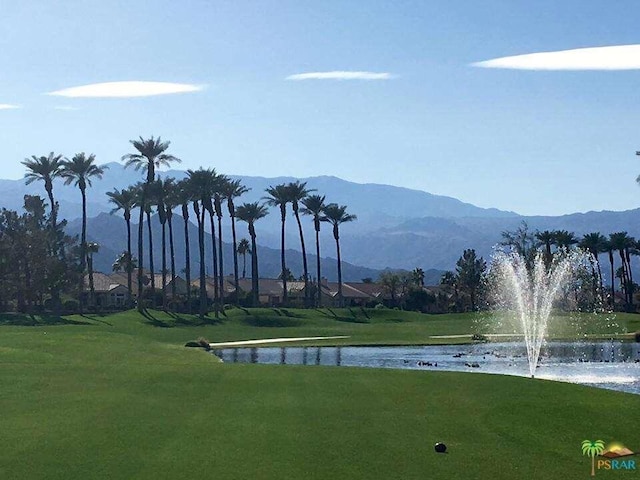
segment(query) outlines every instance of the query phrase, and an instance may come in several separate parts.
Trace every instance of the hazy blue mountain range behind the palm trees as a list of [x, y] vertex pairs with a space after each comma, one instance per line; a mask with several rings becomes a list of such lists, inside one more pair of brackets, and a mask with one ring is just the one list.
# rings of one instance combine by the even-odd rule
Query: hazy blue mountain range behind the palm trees
[[[105, 195], [113, 188], [125, 188], [142, 176], [139, 172], [125, 169], [121, 164], [107, 164], [108, 170], [101, 180], [94, 180], [88, 193], [89, 237], [101, 244], [96, 257], [96, 266], [110, 269], [118, 252], [124, 250], [126, 238], [124, 221], [117, 215], [108, 215], [111, 205]], [[184, 171], [170, 170], [160, 172], [162, 177], [180, 179]], [[341, 228], [342, 258], [345, 264], [345, 279], [357, 281], [364, 277], [376, 278], [383, 269], [407, 269], [416, 267], [427, 271], [427, 283], [437, 282], [444, 270], [455, 268], [455, 262], [466, 248], [474, 248], [485, 259], [492, 254], [494, 245], [501, 240], [501, 232], [515, 230], [527, 222], [532, 230], [563, 229], [581, 236], [589, 232], [604, 235], [617, 231], [627, 231], [632, 236], [640, 236], [640, 209], [622, 212], [600, 211], [574, 213], [562, 216], [521, 216], [510, 211], [495, 208], [480, 208], [461, 202], [452, 197], [433, 195], [427, 192], [402, 187], [379, 184], [359, 184], [332, 176], [309, 178], [294, 177], [251, 177], [235, 176], [244, 185], [251, 188], [238, 203], [260, 200], [264, 189], [270, 185], [300, 180], [307, 186], [326, 195], [328, 202], [348, 206], [348, 211], [358, 216], [358, 220], [344, 224]], [[45, 196], [42, 184], [38, 182], [25, 185], [23, 180], [0, 180], [2, 199], [0, 205], [20, 209], [25, 194]], [[79, 231], [80, 192], [73, 186], [56, 182], [54, 193], [60, 204], [60, 216], [68, 219], [69, 232]], [[182, 219], [177, 216], [180, 232]], [[225, 219], [228, 222], [228, 219]], [[294, 275], [301, 273], [301, 258], [297, 251], [299, 238], [293, 216], [287, 219], [287, 262]], [[314, 232], [309, 218], [305, 222], [305, 241], [307, 249], [314, 251]], [[156, 224], [156, 229], [159, 229]], [[224, 226], [226, 234], [230, 229]], [[135, 230], [135, 229], [134, 229]], [[195, 232], [195, 226], [191, 226]], [[261, 275], [277, 276], [279, 273], [280, 218], [275, 210], [257, 224], [258, 243], [260, 245]], [[225, 241], [230, 238], [226, 236]], [[239, 238], [247, 235], [246, 225], [238, 224]], [[159, 236], [157, 237], [159, 238]], [[197, 237], [192, 233], [192, 242]], [[184, 242], [182, 235], [176, 235], [176, 241]], [[194, 244], [195, 245], [195, 244]], [[192, 252], [197, 252], [193, 248]], [[335, 275], [335, 243], [329, 228], [321, 233], [321, 245], [324, 272], [328, 278]], [[182, 250], [176, 247], [177, 250]], [[207, 250], [209, 251], [209, 250]], [[192, 254], [193, 255], [193, 254]], [[225, 247], [226, 265], [231, 259], [231, 247]], [[156, 256], [159, 266], [159, 255]], [[184, 259], [177, 259], [180, 269]], [[315, 265], [314, 259], [309, 259]], [[312, 272], [314, 268], [311, 269]], [[226, 271], [230, 271], [226, 268]]]

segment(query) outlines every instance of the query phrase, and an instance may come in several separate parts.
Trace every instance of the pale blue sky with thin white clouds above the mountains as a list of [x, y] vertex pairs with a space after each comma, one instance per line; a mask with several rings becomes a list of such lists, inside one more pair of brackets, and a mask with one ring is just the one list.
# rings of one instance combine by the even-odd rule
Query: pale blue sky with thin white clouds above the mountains
[[526, 215], [640, 207], [635, 0], [0, 0], [0, 13], [2, 178], [31, 155], [108, 163], [159, 135], [185, 169], [333, 175]]

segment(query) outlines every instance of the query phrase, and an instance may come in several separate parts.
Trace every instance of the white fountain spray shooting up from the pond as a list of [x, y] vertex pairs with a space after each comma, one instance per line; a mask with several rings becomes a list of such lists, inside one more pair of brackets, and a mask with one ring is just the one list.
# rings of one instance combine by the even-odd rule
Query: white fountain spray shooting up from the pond
[[538, 366], [554, 301], [577, 278], [580, 269], [586, 267], [588, 259], [589, 254], [583, 251], [556, 255], [551, 262], [545, 261], [542, 252], [529, 263], [516, 252], [497, 251], [493, 256], [489, 278], [494, 301], [498, 308], [517, 317], [531, 378]]

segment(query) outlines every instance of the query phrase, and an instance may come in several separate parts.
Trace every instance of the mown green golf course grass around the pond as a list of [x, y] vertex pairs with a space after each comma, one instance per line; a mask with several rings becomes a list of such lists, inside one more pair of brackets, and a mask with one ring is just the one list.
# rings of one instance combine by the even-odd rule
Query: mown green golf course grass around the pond
[[[0, 317], [0, 478], [578, 479], [590, 473], [584, 439], [640, 450], [636, 395], [496, 375], [222, 364], [183, 347], [199, 336], [427, 343], [474, 321], [366, 313], [233, 310], [208, 325], [158, 312]], [[40, 325], [8, 325], [21, 322]], [[450, 452], [434, 453], [437, 441]]]

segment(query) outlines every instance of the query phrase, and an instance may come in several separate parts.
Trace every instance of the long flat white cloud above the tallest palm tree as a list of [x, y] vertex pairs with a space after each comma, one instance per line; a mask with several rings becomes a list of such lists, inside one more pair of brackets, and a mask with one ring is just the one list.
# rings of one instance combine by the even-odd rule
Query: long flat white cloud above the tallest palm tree
[[82, 85], [50, 92], [47, 95], [70, 98], [151, 97], [172, 93], [189, 93], [203, 90], [204, 85], [167, 82], [107, 82]]

